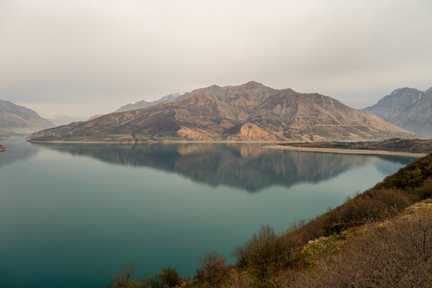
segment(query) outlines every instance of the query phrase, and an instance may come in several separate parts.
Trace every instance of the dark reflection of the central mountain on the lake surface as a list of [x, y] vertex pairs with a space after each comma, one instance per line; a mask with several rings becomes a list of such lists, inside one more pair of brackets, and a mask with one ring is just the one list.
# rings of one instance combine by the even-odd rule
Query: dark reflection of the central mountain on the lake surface
[[104, 162], [176, 172], [210, 186], [227, 185], [249, 192], [272, 185], [323, 181], [382, 158], [397, 164], [410, 157], [270, 150], [257, 144], [188, 143], [155, 145], [37, 144]]

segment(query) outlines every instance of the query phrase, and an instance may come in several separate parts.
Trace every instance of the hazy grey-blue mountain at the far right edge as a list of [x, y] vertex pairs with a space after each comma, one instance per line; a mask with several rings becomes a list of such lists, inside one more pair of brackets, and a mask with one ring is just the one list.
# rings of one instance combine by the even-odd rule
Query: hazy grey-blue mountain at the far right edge
[[413, 88], [397, 89], [364, 111], [408, 131], [432, 136], [432, 88], [424, 92]]

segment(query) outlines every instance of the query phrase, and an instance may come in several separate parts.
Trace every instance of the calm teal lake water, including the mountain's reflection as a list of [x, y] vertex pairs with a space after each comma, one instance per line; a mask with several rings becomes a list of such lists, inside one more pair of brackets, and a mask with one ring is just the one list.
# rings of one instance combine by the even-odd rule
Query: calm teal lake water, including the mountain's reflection
[[0, 287], [100, 287], [226, 256], [261, 224], [284, 231], [364, 191], [408, 157], [260, 145], [49, 145], [0, 139]]

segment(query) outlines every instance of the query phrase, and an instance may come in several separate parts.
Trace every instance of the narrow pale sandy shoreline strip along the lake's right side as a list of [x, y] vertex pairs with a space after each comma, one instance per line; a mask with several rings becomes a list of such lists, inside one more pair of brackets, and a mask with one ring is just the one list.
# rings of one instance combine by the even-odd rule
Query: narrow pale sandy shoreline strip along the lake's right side
[[383, 150], [355, 150], [355, 149], [337, 149], [337, 148], [308, 148], [308, 147], [294, 147], [282, 145], [269, 145], [263, 148], [277, 149], [277, 150], [294, 150], [294, 151], [309, 151], [309, 152], [328, 152], [328, 153], [343, 153], [343, 154], [366, 154], [366, 155], [396, 155], [396, 156], [409, 156], [409, 157], [424, 157], [424, 153], [411, 153], [411, 152], [393, 152]]

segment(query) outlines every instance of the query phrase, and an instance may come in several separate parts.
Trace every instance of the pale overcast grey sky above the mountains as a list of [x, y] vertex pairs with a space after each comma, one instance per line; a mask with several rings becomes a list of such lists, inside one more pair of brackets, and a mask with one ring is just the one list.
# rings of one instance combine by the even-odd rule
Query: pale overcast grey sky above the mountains
[[0, 99], [42, 116], [255, 80], [354, 108], [432, 86], [431, 0], [0, 0]]

